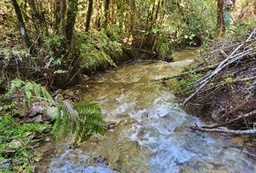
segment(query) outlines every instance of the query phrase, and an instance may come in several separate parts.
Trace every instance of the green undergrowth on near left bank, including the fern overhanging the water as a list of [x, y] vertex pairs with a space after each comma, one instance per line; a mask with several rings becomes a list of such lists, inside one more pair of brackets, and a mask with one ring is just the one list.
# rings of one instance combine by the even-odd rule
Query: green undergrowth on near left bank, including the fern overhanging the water
[[[1, 167], [0, 172], [19, 172], [20, 169], [32, 172], [33, 148], [30, 146], [33, 145], [35, 133], [46, 137], [42, 131], [46, 128], [52, 128], [56, 140], [59, 134], [66, 137], [72, 133], [75, 142], [83, 142], [94, 133], [103, 134], [105, 130], [105, 122], [98, 103], [85, 101], [82, 104], [74, 104], [69, 100], [55, 101], [45, 87], [33, 81], [13, 80], [9, 92], [1, 96], [0, 102], [0, 161], [7, 161], [7, 167]], [[53, 112], [52, 116], [53, 127], [38, 123], [15, 122], [14, 117], [26, 112], [33, 103], [39, 103], [44, 110], [56, 107], [56, 112]], [[8, 148], [14, 150], [14, 155], [6, 154]]]

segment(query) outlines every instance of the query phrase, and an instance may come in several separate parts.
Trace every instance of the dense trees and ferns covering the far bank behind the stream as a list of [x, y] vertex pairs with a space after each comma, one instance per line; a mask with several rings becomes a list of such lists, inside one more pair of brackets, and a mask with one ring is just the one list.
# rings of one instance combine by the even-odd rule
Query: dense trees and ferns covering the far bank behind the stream
[[115, 66], [122, 50], [134, 50], [129, 58], [143, 52], [171, 56], [218, 31], [216, 1], [208, 0], [4, 0], [0, 6], [3, 66], [33, 72], [31, 79], [48, 85], [71, 84], [83, 71]]

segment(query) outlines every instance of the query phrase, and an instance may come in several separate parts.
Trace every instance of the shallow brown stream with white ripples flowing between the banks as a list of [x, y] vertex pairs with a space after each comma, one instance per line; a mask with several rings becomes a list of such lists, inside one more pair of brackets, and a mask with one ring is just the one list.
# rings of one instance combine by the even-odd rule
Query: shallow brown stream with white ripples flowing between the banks
[[[230, 136], [189, 130], [186, 125], [202, 125], [202, 120], [153, 80], [179, 74], [192, 55], [183, 51], [174, 63], [130, 63], [95, 76], [87, 95], [116, 126], [76, 147], [71, 138], [60, 140], [40, 162], [40, 172], [256, 172], [256, 155], [247, 149], [240, 153]], [[96, 164], [97, 158], [105, 158], [108, 167]]]

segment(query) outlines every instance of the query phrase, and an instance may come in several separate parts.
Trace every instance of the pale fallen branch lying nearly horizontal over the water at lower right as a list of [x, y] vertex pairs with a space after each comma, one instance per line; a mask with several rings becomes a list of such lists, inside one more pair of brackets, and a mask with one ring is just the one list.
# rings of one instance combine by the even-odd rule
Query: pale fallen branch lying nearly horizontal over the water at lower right
[[191, 126], [192, 130], [198, 130], [202, 132], [210, 132], [210, 133], [227, 133], [227, 134], [234, 134], [234, 135], [245, 135], [245, 134], [255, 134], [256, 129], [250, 129], [250, 130], [229, 130], [229, 129], [220, 129], [220, 128], [202, 128], [197, 126]]

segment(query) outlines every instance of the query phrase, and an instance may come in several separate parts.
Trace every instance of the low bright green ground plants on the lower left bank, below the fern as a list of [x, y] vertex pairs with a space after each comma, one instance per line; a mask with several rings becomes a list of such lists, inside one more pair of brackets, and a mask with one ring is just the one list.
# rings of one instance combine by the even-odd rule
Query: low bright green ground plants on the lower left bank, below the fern
[[[0, 115], [0, 161], [10, 159], [12, 162], [9, 168], [0, 169], [0, 172], [18, 172], [21, 167], [24, 172], [32, 172], [33, 151], [30, 149], [30, 145], [33, 143], [33, 134], [41, 134], [41, 129], [49, 128], [49, 125], [37, 123], [21, 125], [14, 121], [13, 115], [15, 114], [17, 113], [12, 111]], [[22, 146], [15, 146], [12, 141], [19, 141]], [[14, 149], [14, 156], [4, 154], [7, 147]], [[22, 163], [22, 166], [17, 165], [17, 163]]]

